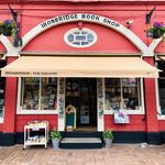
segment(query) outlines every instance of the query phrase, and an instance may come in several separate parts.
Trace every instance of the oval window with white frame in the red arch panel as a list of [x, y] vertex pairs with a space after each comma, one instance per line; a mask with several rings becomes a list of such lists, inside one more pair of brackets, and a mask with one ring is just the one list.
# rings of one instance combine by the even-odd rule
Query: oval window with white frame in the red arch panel
[[73, 47], [88, 47], [96, 43], [97, 35], [89, 29], [73, 29], [65, 33], [64, 40]]

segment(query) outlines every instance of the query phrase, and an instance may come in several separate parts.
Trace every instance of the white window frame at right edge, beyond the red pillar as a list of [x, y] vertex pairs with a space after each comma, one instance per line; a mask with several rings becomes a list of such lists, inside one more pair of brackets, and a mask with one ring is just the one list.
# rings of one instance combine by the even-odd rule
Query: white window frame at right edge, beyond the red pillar
[[[155, 63], [157, 68], [157, 62]], [[165, 114], [162, 114], [161, 106], [160, 106], [160, 94], [158, 94], [158, 78], [155, 78], [155, 92], [156, 92], [156, 110], [157, 110], [157, 119], [165, 120]]]

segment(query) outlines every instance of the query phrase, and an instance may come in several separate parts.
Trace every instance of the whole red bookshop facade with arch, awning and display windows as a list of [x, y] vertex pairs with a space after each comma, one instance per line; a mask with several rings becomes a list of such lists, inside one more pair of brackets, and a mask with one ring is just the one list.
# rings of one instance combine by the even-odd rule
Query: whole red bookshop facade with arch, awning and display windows
[[[19, 13], [23, 45], [13, 47], [10, 38], [0, 36], [7, 59], [1, 145], [21, 143], [24, 125], [33, 120], [47, 120], [51, 130], [65, 131], [68, 105], [77, 109], [76, 129], [112, 129], [118, 143], [165, 142], [163, 78], [139, 70], [143, 63], [150, 64], [151, 74], [155, 65], [164, 69], [164, 44], [145, 32], [145, 14], [155, 2], [24, 0], [11, 6]], [[164, 8], [165, 2], [156, 1], [153, 21], [164, 21]], [[11, 16], [6, 3], [1, 15]], [[127, 111], [129, 123], [114, 123], [119, 109]]]

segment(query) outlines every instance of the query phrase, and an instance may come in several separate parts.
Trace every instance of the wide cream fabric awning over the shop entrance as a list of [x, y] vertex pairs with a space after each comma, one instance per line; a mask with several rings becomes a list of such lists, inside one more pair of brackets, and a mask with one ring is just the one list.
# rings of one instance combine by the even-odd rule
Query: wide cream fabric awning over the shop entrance
[[140, 57], [22, 56], [1, 70], [4, 77], [158, 77]]

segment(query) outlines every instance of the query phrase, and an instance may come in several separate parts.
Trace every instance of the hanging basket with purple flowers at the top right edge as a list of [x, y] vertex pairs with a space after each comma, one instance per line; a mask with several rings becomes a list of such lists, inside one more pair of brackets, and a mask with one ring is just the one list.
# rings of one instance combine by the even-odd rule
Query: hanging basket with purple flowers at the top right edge
[[146, 31], [146, 36], [152, 38], [164, 37], [165, 24], [163, 22], [154, 22], [153, 26]]

